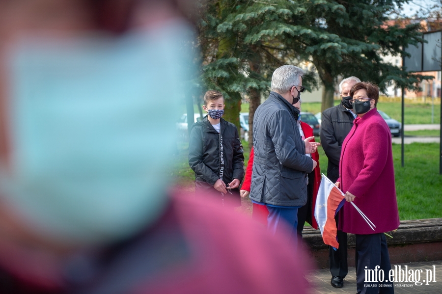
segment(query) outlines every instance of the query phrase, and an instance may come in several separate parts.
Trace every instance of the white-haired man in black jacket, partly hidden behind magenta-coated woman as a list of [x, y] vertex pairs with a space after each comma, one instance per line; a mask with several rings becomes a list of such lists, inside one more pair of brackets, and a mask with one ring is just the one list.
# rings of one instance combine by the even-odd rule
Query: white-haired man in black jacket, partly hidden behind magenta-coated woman
[[[354, 84], [360, 82], [356, 77], [349, 77], [339, 84], [341, 103], [330, 107], [322, 113], [321, 121], [321, 144], [329, 159], [327, 177], [334, 183], [339, 178], [339, 158], [341, 146], [345, 137], [353, 127], [356, 114], [352, 111], [350, 103], [350, 89]], [[339, 214], [336, 214], [336, 226]], [[344, 286], [344, 278], [348, 273], [347, 267], [347, 233], [337, 231], [339, 248], [334, 250], [329, 246], [331, 285], [335, 288]]]

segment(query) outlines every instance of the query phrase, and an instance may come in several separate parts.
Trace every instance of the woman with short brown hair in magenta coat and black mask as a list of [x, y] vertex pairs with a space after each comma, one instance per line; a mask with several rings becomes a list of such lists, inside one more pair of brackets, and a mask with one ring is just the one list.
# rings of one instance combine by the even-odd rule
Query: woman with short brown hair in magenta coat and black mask
[[[379, 266], [385, 273], [391, 269], [384, 233], [399, 227], [391, 134], [376, 108], [376, 85], [358, 82], [351, 88], [350, 96], [358, 117], [342, 144], [336, 185], [345, 191], [347, 202], [339, 213], [339, 229], [356, 236], [358, 293], [394, 293], [391, 281], [365, 281], [365, 269]], [[350, 204], [352, 201], [373, 222], [374, 230]]]

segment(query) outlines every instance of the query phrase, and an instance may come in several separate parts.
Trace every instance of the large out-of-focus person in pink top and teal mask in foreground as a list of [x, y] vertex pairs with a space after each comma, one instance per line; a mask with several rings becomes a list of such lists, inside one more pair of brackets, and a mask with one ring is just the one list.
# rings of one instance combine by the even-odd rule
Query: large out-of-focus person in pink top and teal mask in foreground
[[167, 192], [188, 5], [0, 1], [0, 293], [305, 293], [302, 256]]

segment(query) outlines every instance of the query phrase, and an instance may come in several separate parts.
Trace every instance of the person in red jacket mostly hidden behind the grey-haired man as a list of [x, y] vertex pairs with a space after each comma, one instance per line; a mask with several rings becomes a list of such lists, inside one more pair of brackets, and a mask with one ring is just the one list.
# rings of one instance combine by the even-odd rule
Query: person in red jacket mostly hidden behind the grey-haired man
[[[295, 103], [293, 106], [301, 110], [301, 100], [298, 103]], [[300, 134], [303, 136], [303, 139], [313, 140], [313, 129], [303, 121], [298, 120], [298, 126], [300, 127]], [[241, 196], [247, 197], [250, 193], [250, 185], [251, 185], [251, 174], [252, 174], [252, 165], [253, 165], [253, 147], [250, 151], [249, 162], [247, 164], [246, 176], [244, 178], [243, 185], [241, 187]], [[297, 231], [299, 236], [302, 238], [302, 231], [304, 228], [304, 222], [307, 221], [313, 228], [318, 229], [318, 224], [316, 223], [316, 219], [314, 218], [314, 209], [316, 203], [316, 195], [318, 193], [319, 183], [321, 182], [321, 170], [319, 168], [319, 154], [318, 151], [311, 154], [313, 160], [315, 160], [318, 165], [316, 168], [308, 174], [308, 185], [307, 185], [307, 203], [298, 210], [298, 227]], [[252, 210], [252, 218], [256, 221], [262, 223], [264, 226], [267, 226], [267, 216], [269, 211], [265, 205], [258, 205], [253, 203]]]

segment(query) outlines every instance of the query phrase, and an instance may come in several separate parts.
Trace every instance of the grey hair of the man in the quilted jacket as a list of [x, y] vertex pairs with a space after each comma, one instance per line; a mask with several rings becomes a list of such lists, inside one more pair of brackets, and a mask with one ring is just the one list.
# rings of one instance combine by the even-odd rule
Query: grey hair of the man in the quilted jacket
[[303, 76], [304, 71], [297, 66], [280, 66], [273, 72], [271, 90], [279, 94], [285, 94], [293, 86], [299, 86], [299, 78]]

